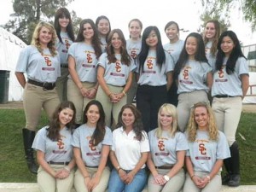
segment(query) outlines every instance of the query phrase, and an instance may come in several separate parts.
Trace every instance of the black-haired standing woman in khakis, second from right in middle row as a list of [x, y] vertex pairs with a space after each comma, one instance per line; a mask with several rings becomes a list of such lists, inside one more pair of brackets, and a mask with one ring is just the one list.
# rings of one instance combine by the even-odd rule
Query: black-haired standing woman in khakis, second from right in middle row
[[201, 35], [192, 32], [185, 40], [174, 69], [177, 79], [177, 124], [181, 131], [189, 120], [189, 110], [195, 102], [208, 102], [212, 87], [212, 67], [207, 62]]

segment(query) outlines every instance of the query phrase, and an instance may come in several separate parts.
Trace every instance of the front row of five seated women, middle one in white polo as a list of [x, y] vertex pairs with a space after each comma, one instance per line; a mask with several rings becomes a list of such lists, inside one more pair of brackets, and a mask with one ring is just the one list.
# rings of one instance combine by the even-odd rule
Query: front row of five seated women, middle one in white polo
[[230, 150], [207, 103], [195, 103], [185, 134], [177, 128], [175, 106], [167, 103], [159, 109], [158, 127], [148, 135], [132, 104], [121, 108], [113, 133], [105, 125], [101, 102], [87, 104], [84, 124], [77, 129], [75, 113], [73, 102], [61, 102], [35, 137], [41, 191], [65, 192], [74, 186], [77, 192], [141, 192], [145, 185], [148, 192], [220, 190], [221, 167]]

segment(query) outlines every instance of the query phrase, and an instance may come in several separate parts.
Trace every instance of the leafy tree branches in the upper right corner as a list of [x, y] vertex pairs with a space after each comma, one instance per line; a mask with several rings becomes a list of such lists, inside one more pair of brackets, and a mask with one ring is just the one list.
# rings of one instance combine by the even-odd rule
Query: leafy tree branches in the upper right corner
[[[255, 0], [201, 0], [204, 7], [217, 7], [224, 11], [224, 15], [230, 15], [230, 9], [241, 9], [244, 19], [251, 22], [252, 31], [256, 27], [256, 1]], [[215, 7], [214, 7], [215, 6]]]

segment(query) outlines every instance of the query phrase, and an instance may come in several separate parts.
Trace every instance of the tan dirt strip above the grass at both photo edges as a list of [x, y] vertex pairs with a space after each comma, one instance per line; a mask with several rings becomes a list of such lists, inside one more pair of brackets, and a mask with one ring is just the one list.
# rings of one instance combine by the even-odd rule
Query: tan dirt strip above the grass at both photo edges
[[[7, 102], [5, 104], [0, 104], [0, 108], [23, 108], [23, 102]], [[256, 113], [256, 104], [243, 104], [242, 111]]]

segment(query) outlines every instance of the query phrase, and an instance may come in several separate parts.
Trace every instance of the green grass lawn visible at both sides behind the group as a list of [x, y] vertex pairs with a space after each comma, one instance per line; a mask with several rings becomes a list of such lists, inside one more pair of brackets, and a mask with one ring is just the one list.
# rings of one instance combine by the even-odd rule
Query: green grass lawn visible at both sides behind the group
[[[22, 109], [0, 109], [0, 183], [34, 183], [24, 158], [21, 129], [26, 124]], [[48, 124], [42, 113], [39, 128]], [[237, 140], [241, 155], [241, 184], [256, 184], [256, 114], [242, 113]]]

